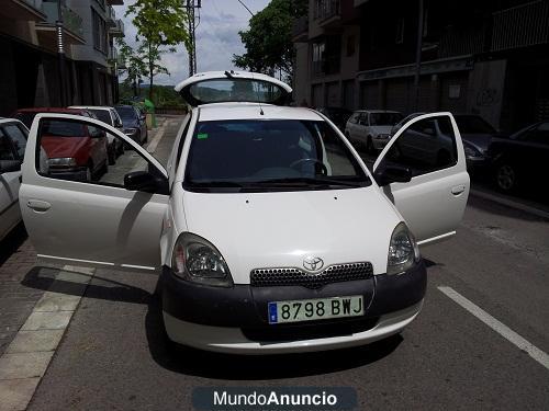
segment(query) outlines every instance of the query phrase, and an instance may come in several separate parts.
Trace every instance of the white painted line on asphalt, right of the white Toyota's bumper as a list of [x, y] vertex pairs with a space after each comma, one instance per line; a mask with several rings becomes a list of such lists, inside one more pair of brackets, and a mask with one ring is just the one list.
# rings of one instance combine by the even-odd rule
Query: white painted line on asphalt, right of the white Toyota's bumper
[[496, 320], [494, 317], [489, 315], [482, 308], [477, 306], [475, 304], [468, 300], [461, 294], [456, 292], [453, 288], [439, 286], [437, 287], [442, 294], [445, 294], [448, 298], [452, 299], [455, 302], [463, 307], [479, 320], [484, 322], [492, 330], [497, 332], [504, 339], [516, 345], [519, 350], [523, 350], [528, 353], [530, 357], [536, 359], [544, 367], [549, 369], [549, 355], [547, 355], [544, 351], [539, 350], [537, 346], [528, 342], [526, 339], [517, 334], [515, 331], [509, 329], [503, 322]]

